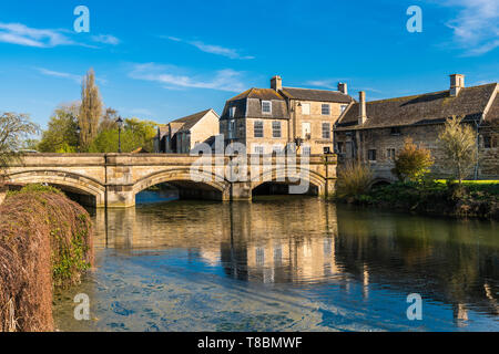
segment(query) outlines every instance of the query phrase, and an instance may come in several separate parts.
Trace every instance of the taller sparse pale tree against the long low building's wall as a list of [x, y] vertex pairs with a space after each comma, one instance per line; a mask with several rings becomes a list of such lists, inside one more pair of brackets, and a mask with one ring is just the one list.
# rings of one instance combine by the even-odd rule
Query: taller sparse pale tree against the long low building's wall
[[477, 134], [470, 125], [462, 124], [462, 118], [454, 116], [446, 121], [438, 137], [444, 164], [452, 169], [461, 186], [477, 162]]

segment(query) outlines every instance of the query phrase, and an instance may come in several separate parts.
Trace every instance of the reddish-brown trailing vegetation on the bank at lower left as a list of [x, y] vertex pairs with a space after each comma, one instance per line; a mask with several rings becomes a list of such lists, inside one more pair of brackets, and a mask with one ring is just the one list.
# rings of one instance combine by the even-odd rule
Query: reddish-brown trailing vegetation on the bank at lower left
[[0, 332], [52, 331], [52, 293], [92, 263], [89, 214], [61, 191], [32, 185], [0, 206]]

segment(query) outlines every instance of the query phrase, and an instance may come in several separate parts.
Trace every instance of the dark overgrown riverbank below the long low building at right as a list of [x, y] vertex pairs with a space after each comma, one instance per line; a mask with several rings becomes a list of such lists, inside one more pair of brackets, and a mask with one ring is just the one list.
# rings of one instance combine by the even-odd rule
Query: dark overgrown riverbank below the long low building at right
[[338, 201], [380, 207], [421, 215], [478, 217], [499, 220], [499, 183], [465, 181], [447, 184], [396, 183], [371, 188], [364, 194], [337, 198]]

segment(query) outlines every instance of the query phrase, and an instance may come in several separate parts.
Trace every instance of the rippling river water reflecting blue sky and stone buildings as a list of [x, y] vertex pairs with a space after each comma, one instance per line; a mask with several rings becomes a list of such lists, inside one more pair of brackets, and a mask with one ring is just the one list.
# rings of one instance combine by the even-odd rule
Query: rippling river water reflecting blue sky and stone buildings
[[[499, 331], [499, 223], [313, 197], [140, 198], [93, 211], [95, 269], [55, 294], [59, 330]], [[78, 293], [90, 321], [74, 319]]]

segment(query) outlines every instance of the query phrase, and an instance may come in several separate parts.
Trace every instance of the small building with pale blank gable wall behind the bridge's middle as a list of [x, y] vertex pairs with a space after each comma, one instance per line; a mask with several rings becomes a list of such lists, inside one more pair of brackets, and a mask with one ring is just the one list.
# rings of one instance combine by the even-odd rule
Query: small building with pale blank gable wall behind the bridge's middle
[[211, 108], [172, 121], [157, 128], [156, 152], [189, 154], [196, 145], [218, 135], [218, 115]]

